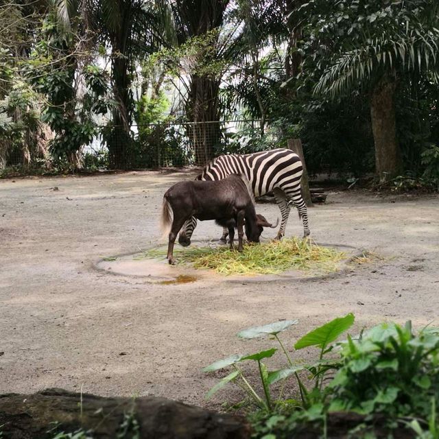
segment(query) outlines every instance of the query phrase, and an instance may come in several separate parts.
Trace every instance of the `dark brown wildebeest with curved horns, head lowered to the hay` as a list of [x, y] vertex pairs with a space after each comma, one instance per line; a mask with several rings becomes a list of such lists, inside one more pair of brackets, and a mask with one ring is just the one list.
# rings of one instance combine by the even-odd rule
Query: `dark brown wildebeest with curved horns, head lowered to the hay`
[[183, 181], [171, 186], [163, 197], [161, 225], [166, 233], [169, 228], [167, 259], [175, 263], [173, 256], [177, 234], [187, 219], [195, 217], [204, 221], [215, 219], [226, 226], [233, 248], [235, 225], [238, 229], [238, 251], [243, 250], [244, 224], [247, 239], [259, 242], [263, 227], [275, 228], [262, 215], [254, 211], [254, 198], [244, 176], [231, 174], [219, 181]]

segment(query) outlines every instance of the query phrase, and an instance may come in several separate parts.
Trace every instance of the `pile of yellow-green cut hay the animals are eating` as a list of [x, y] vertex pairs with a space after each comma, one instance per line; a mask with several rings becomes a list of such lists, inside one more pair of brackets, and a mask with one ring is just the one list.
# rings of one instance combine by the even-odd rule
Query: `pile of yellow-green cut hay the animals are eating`
[[[193, 268], [211, 269], [226, 276], [230, 274], [281, 274], [287, 270], [335, 272], [344, 252], [321, 247], [311, 239], [285, 238], [261, 244], [247, 244], [243, 252], [222, 248], [176, 249], [174, 254], [178, 264], [191, 264]], [[166, 256], [163, 249], [147, 250], [136, 259], [161, 258]]]

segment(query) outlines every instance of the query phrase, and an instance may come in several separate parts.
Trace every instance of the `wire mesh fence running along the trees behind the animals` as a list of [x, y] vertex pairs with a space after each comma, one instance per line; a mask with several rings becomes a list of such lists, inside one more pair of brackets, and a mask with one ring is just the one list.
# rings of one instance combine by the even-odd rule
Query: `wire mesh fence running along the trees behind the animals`
[[61, 171], [76, 169], [157, 169], [203, 166], [221, 154], [254, 152], [278, 143], [276, 136], [261, 137], [259, 121], [211, 121], [102, 126], [88, 145], [54, 155], [50, 130], [0, 132], [0, 172], [15, 169]]

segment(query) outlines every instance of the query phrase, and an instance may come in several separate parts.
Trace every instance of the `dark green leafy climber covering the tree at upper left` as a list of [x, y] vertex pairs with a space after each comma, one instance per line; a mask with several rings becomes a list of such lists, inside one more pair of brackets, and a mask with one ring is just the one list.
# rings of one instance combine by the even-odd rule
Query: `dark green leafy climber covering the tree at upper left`
[[[78, 71], [78, 59], [73, 54], [74, 36], [62, 32], [52, 14], [45, 18], [42, 37], [34, 57], [42, 64], [43, 74], [33, 78], [36, 89], [47, 99], [41, 119], [55, 132], [50, 144], [54, 158], [67, 159], [77, 167], [81, 148], [91, 143], [97, 134], [93, 117], [105, 114], [110, 108], [108, 78], [93, 64], [83, 72]], [[43, 56], [48, 56], [51, 63], [41, 62]], [[82, 98], [76, 90], [80, 75], [84, 78]]]

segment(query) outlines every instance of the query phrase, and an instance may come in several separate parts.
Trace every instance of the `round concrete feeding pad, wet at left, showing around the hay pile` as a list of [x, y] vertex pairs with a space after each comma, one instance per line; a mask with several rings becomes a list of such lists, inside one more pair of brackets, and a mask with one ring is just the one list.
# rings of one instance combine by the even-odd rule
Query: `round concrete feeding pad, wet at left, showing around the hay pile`
[[[200, 241], [198, 246], [216, 246], [209, 241]], [[340, 261], [340, 268], [337, 272], [322, 274], [316, 272], [302, 272], [300, 270], [287, 270], [282, 274], [254, 274], [253, 276], [237, 274], [234, 276], [222, 276], [213, 270], [195, 270], [190, 265], [169, 265], [165, 257], [161, 258], [145, 258], [143, 252], [132, 254], [123, 254], [116, 257], [108, 257], [100, 259], [95, 263], [95, 268], [103, 270], [108, 274], [118, 274], [121, 276], [134, 276], [146, 278], [147, 281], [163, 285], [181, 284], [204, 281], [278, 281], [278, 280], [310, 280], [316, 278], [326, 278], [334, 274], [340, 274], [346, 270], [348, 263], [353, 257], [362, 254], [357, 248], [350, 246], [340, 246], [337, 244], [319, 244], [320, 246], [335, 248], [344, 252], [346, 257]], [[158, 250], [165, 250], [166, 246], [159, 247]], [[145, 250], [146, 251], [146, 250]], [[184, 251], [184, 250], [183, 250]], [[178, 253], [175, 254], [178, 261]]]

